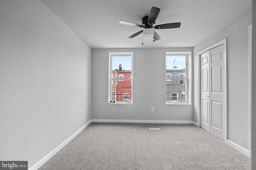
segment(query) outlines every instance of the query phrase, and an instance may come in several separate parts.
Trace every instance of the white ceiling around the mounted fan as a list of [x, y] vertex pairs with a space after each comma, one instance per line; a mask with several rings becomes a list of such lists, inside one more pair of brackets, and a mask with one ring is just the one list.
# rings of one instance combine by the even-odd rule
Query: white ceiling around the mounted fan
[[[252, 0], [42, 0], [89, 47], [194, 47], [252, 9]], [[140, 27], [151, 7], [160, 8], [156, 25], [181, 22], [180, 28], [156, 29], [161, 39], [144, 39]]]

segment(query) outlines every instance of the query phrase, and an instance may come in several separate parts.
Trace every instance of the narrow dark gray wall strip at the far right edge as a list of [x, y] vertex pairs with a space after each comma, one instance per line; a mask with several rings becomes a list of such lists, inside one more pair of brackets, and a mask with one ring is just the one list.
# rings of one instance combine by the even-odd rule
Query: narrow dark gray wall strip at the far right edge
[[[252, 1], [252, 25], [256, 25], [256, 1]], [[252, 27], [252, 170], [256, 169], [256, 27]]]

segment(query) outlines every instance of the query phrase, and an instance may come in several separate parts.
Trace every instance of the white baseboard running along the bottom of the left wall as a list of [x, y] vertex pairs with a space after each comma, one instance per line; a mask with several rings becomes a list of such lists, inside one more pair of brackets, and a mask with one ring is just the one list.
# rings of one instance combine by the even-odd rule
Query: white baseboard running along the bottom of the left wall
[[76, 131], [73, 135], [71, 135], [66, 141], [62, 142], [58, 147], [56, 147], [54, 150], [52, 150], [50, 153], [48, 153], [44, 158], [39, 160], [36, 164], [34, 164], [29, 170], [37, 170], [40, 166], [42, 166], [47, 160], [49, 160], [54, 154], [56, 154], [60, 149], [62, 149], [66, 144], [68, 144], [76, 135], [78, 135], [84, 128], [86, 128], [92, 120], [88, 121], [85, 125], [83, 125], [78, 131]]

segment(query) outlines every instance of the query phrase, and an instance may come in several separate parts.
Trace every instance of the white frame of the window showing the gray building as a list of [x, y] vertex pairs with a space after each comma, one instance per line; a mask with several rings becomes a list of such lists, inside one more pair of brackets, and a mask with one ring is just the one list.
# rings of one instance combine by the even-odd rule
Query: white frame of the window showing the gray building
[[[185, 70], [185, 78], [182, 78], [184, 79], [184, 81], [186, 81], [185, 83], [185, 100], [186, 102], [165, 102], [165, 104], [191, 104], [191, 93], [192, 93], [192, 52], [191, 51], [188, 51], [188, 52], [166, 52], [166, 56], [167, 55], [186, 55], [186, 70]], [[165, 56], [165, 58], [166, 58]], [[166, 67], [166, 63], [164, 65]], [[166, 70], [165, 70], [166, 72]], [[166, 74], [166, 73], [165, 73]], [[165, 80], [165, 84], [166, 84], [166, 81], [169, 81], [170, 80], [179, 80], [180, 78], [167, 78], [166, 77], [166, 80]]]

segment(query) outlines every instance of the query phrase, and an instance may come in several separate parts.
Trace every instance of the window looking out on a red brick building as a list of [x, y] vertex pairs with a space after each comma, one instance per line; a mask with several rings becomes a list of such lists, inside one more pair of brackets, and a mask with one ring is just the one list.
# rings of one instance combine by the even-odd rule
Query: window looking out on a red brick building
[[109, 53], [108, 102], [132, 104], [133, 53]]

